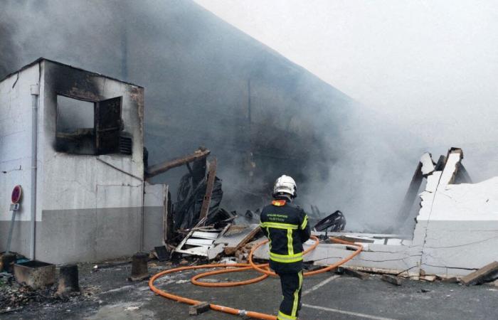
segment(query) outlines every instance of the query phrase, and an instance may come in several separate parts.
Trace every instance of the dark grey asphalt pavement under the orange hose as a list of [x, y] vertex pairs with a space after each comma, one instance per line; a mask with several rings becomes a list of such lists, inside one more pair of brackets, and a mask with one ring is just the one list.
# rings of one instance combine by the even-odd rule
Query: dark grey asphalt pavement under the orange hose
[[[164, 270], [160, 265], [151, 272]], [[130, 265], [102, 270], [80, 268], [85, 298], [58, 304], [37, 304], [0, 315], [1, 319], [240, 319], [240, 316], [207, 311], [189, 316], [189, 306], [155, 295], [147, 281], [128, 282]], [[280, 282], [269, 277], [243, 287], [194, 286], [186, 271], [159, 279], [157, 287], [201, 301], [238, 309], [276, 314]], [[249, 279], [256, 272], [235, 272], [208, 281]], [[88, 296], [88, 297], [86, 297]], [[383, 282], [378, 275], [357, 279], [330, 272], [305, 277], [300, 319], [498, 319], [498, 288], [465, 287], [444, 282], [404, 280], [401, 286]]]

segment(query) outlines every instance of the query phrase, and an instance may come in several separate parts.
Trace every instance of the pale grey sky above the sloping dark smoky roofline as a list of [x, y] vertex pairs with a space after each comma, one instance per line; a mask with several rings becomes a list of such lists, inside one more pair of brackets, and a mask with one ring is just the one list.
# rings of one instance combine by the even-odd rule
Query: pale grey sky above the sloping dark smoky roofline
[[196, 3], [428, 146], [498, 142], [498, 1]]

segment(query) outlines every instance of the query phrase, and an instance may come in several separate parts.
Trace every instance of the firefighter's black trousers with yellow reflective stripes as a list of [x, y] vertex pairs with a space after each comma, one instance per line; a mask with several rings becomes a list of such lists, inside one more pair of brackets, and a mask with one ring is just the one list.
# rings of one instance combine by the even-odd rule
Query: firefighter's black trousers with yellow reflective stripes
[[280, 304], [277, 319], [294, 320], [300, 309], [302, 290], [302, 271], [278, 273], [284, 299]]

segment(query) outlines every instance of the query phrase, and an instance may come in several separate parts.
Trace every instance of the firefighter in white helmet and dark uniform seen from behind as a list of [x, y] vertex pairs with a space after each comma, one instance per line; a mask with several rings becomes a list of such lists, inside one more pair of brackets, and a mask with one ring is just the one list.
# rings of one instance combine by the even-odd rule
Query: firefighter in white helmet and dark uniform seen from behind
[[270, 240], [270, 268], [279, 275], [282, 286], [277, 319], [293, 320], [301, 309], [302, 243], [311, 230], [304, 210], [292, 203], [297, 196], [293, 178], [277, 178], [272, 196], [275, 200], [263, 208], [260, 226]]

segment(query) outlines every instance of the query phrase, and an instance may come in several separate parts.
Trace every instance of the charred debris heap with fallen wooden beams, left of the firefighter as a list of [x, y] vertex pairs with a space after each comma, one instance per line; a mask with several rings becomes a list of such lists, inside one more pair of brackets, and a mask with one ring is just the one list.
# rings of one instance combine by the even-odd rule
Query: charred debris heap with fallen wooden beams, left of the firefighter
[[[212, 260], [226, 249], [228, 255], [234, 255], [259, 230], [255, 230], [259, 228], [258, 225], [252, 228], [235, 225], [237, 213], [220, 207], [223, 198], [222, 181], [216, 176], [216, 158], [208, 161], [208, 154], [210, 151], [201, 147], [194, 154], [147, 169], [149, 177], [184, 164], [189, 171], [181, 178], [176, 202], [171, 206], [169, 225], [173, 228], [174, 235], [167, 240], [166, 246], [156, 247], [153, 251], [158, 259], [161, 256], [160, 260], [167, 260], [167, 256], [171, 257], [173, 254], [194, 255]], [[250, 210], [246, 215], [253, 218]], [[239, 239], [236, 235], [240, 234], [244, 236]], [[229, 239], [231, 237], [238, 240]]]

